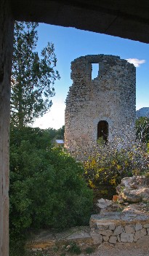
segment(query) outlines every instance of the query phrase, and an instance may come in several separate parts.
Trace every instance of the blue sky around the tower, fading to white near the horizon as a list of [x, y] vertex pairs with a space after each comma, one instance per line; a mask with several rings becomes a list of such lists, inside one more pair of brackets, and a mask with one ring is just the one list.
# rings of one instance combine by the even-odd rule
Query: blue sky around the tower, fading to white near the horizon
[[132, 62], [137, 66], [136, 109], [140, 109], [143, 106], [149, 107], [148, 44], [44, 23], [39, 24], [38, 31], [39, 42], [37, 50], [39, 52], [47, 45], [47, 42], [55, 44], [57, 70], [61, 79], [55, 82], [56, 96], [52, 98], [52, 108], [44, 117], [36, 120], [33, 126], [57, 129], [64, 125], [65, 98], [69, 87], [72, 85], [71, 61], [84, 55], [108, 54], [118, 55], [122, 59], [132, 59]]

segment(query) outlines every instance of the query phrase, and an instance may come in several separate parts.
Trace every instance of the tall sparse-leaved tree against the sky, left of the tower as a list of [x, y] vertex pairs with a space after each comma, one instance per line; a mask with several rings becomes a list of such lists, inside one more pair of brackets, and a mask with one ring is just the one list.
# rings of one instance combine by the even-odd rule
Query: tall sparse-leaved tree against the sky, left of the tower
[[19, 127], [47, 112], [55, 96], [55, 80], [60, 79], [54, 44], [48, 42], [41, 55], [36, 52], [37, 27], [38, 23], [15, 23], [11, 120]]

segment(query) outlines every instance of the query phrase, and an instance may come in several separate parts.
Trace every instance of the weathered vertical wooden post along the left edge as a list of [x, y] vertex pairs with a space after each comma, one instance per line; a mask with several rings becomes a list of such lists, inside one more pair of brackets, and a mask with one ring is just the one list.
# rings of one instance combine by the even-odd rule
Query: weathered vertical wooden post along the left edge
[[0, 0], [0, 255], [9, 256], [9, 114], [13, 29], [9, 0]]

